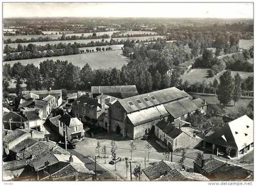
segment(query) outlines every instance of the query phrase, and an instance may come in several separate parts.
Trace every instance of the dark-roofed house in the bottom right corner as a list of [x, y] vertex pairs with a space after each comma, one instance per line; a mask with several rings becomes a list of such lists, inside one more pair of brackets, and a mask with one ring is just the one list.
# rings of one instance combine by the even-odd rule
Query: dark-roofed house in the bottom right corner
[[241, 181], [253, 174], [240, 166], [227, 164], [227, 162], [213, 158], [195, 160], [194, 172], [200, 173], [212, 181]]

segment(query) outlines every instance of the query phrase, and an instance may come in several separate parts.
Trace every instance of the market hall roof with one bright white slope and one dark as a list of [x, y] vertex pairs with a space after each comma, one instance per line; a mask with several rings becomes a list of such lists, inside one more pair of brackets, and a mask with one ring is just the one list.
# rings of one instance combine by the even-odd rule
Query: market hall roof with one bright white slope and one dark
[[244, 148], [244, 143], [249, 145], [254, 141], [253, 131], [253, 120], [247, 115], [243, 115], [222, 126], [221, 129], [218, 129], [204, 140], [221, 146], [230, 145], [233, 149], [241, 150]]

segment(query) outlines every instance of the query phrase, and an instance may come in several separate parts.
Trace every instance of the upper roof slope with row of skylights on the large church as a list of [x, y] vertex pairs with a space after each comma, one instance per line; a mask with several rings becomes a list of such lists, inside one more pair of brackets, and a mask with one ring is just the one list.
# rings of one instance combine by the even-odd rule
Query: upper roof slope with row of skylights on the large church
[[[154, 98], [152, 98], [152, 96]], [[160, 105], [163, 103], [172, 102], [179, 98], [188, 97], [186, 92], [180, 91], [179, 89], [172, 87], [168, 89], [162, 89], [160, 91], [149, 92], [146, 94], [136, 95], [129, 98], [118, 100], [127, 113], [138, 111], [141, 109], [149, 108], [151, 106]], [[146, 100], [144, 100], [146, 98]], [[141, 103], [138, 103], [140, 100]], [[130, 106], [128, 102], [132, 102], [133, 106]]]

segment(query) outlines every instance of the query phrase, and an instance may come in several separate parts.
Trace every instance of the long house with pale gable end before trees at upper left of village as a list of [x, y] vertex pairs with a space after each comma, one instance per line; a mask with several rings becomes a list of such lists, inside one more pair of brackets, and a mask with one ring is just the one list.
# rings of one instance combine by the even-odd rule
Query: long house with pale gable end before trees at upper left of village
[[48, 95], [52, 95], [53, 97], [55, 97], [54, 102], [55, 102], [56, 107], [59, 107], [60, 105], [62, 105], [62, 90], [61, 89], [60, 90], [49, 90], [49, 91], [22, 91], [21, 92], [21, 94], [23, 96], [30, 94], [30, 93], [38, 95], [39, 99], [41, 99], [41, 100], [46, 98]]

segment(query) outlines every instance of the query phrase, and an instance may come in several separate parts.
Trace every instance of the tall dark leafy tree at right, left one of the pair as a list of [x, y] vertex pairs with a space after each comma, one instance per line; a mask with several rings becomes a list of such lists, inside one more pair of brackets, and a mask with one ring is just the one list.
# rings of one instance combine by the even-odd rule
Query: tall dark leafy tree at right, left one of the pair
[[217, 89], [217, 97], [221, 104], [226, 106], [233, 97], [233, 78], [231, 71], [227, 70], [219, 77], [219, 86]]

